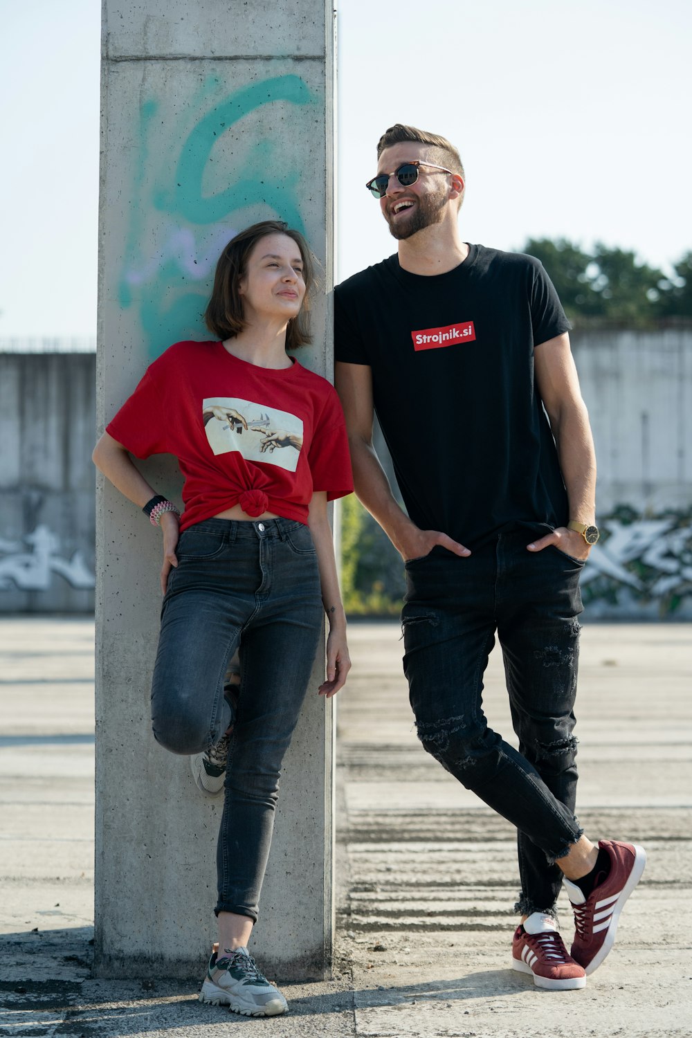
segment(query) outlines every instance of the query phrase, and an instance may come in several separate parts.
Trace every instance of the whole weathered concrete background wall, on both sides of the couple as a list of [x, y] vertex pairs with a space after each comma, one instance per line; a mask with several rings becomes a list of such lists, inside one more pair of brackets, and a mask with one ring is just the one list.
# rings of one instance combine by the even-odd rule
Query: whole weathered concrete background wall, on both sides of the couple
[[[692, 618], [692, 330], [573, 339], [604, 530], [583, 576], [589, 616]], [[0, 612], [92, 608], [89, 349], [0, 340]]]

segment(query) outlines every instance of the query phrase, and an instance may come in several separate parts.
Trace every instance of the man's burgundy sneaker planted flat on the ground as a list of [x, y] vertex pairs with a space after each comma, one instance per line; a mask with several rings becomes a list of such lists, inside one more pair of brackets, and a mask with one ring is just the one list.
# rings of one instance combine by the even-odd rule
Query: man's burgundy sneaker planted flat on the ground
[[533, 974], [536, 987], [553, 991], [572, 991], [586, 987], [586, 974], [570, 958], [557, 923], [552, 916], [534, 911], [523, 926], [518, 926], [511, 941], [511, 967]]

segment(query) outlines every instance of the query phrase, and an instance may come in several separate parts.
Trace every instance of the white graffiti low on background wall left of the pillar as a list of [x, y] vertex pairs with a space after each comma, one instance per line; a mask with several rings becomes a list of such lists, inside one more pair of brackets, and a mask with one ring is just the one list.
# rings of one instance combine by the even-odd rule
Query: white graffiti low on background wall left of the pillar
[[4, 556], [0, 557], [0, 591], [8, 591], [12, 585], [20, 591], [48, 591], [54, 573], [73, 588], [94, 586], [94, 575], [84, 553], [78, 550], [70, 559], [58, 554], [60, 538], [48, 526], [36, 526], [22, 540], [24, 544], [0, 538], [0, 555]]

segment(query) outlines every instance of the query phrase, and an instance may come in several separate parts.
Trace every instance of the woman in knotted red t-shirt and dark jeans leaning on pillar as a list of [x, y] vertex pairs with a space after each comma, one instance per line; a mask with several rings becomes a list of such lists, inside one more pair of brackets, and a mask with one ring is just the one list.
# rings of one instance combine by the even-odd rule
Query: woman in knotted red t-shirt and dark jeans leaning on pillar
[[[353, 489], [332, 386], [286, 354], [309, 342], [312, 280], [303, 238], [265, 221], [217, 265], [214, 342], [176, 343], [146, 371], [93, 452], [104, 474], [163, 534], [161, 635], [151, 690], [157, 740], [175, 754], [228, 744], [219, 832], [219, 951], [201, 1002], [273, 1016], [287, 1010], [248, 955], [281, 761], [322, 627], [327, 699], [351, 666], [327, 502]], [[181, 517], [130, 455], [174, 455]], [[240, 689], [224, 674], [240, 646]], [[224, 770], [223, 766], [222, 769]]]

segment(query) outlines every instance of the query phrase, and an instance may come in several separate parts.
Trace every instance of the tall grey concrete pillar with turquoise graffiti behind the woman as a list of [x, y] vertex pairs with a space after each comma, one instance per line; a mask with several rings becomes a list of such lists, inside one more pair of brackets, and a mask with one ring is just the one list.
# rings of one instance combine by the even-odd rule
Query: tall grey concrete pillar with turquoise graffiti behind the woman
[[[104, 0], [99, 421], [200, 315], [223, 244], [259, 219], [303, 230], [324, 266], [314, 346], [331, 373], [333, 23], [324, 0]], [[142, 466], [179, 501], [170, 459]], [[158, 530], [100, 487], [95, 968], [200, 974], [215, 931], [221, 803], [154, 741]], [[319, 660], [285, 762], [252, 948], [277, 978], [329, 972], [331, 707]], [[167, 960], [167, 954], [170, 959]]]

